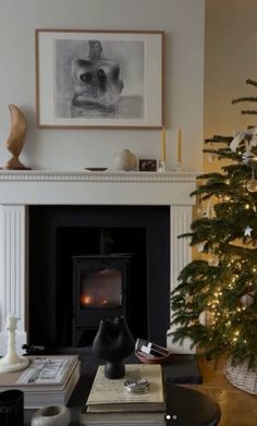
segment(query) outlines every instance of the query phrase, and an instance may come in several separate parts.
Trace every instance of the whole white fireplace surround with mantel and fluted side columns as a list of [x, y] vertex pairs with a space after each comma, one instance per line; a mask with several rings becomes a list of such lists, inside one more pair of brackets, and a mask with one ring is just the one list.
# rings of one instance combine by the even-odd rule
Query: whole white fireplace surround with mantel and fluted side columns
[[[29, 205], [133, 205], [170, 206], [170, 289], [180, 270], [191, 261], [186, 239], [192, 222], [191, 193], [196, 172], [65, 172], [0, 171], [0, 355], [7, 351], [5, 319], [17, 321], [16, 348], [26, 343], [28, 330], [28, 206]], [[40, 242], [38, 242], [40, 244]], [[42, 318], [44, 320], [44, 318]], [[168, 330], [169, 334], [169, 330]], [[188, 353], [169, 341], [174, 352]]]

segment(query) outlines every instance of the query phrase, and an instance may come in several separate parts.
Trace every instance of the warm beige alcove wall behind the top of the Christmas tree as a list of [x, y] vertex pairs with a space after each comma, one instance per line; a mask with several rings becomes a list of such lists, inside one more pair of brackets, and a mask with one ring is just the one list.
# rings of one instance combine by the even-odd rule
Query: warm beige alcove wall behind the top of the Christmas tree
[[241, 96], [257, 96], [246, 85], [257, 80], [257, 1], [206, 0], [205, 136], [232, 135], [257, 124], [257, 117], [242, 115], [250, 104], [232, 105]]

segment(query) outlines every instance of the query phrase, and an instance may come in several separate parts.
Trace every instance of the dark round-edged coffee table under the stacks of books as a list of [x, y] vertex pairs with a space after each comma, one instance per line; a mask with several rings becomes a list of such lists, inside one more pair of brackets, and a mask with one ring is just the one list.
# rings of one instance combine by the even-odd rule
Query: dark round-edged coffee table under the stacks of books
[[[83, 360], [82, 377], [69, 401], [72, 421], [70, 426], [79, 425], [79, 411], [87, 400], [98, 362], [91, 356]], [[164, 375], [166, 377], [166, 375]], [[166, 380], [167, 414], [170, 419], [167, 426], [216, 426], [219, 424], [221, 411], [216, 401], [207, 394], [174, 385]], [[30, 425], [33, 410], [25, 410], [25, 426]]]

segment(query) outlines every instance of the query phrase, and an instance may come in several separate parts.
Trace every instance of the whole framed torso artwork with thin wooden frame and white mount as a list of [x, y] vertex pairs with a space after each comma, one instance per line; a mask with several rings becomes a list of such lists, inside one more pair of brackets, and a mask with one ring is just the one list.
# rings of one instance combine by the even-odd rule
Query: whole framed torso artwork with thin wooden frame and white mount
[[38, 127], [160, 129], [163, 32], [36, 29]]

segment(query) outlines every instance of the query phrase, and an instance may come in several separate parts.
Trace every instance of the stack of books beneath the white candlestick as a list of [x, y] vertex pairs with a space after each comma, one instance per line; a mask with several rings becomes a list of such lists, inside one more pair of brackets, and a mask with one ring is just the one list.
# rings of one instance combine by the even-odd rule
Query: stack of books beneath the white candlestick
[[27, 368], [0, 374], [0, 391], [20, 389], [24, 392], [24, 407], [66, 405], [79, 377], [78, 355], [28, 356]]

